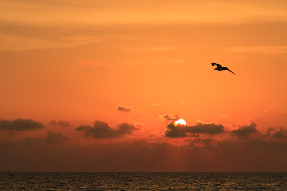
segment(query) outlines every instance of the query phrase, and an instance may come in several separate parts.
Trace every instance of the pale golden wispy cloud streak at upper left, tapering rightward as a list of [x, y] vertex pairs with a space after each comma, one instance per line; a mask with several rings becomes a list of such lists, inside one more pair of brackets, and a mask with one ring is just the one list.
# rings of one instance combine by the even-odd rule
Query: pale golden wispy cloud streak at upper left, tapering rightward
[[[3, 22], [1, 24], [3, 25]], [[8, 30], [3, 30], [0, 34], [2, 39], [0, 51], [62, 48], [103, 40], [102, 36], [90, 35], [83, 29], [79, 29], [82, 32], [79, 33], [73, 26], [48, 27], [11, 23], [6, 29]]]

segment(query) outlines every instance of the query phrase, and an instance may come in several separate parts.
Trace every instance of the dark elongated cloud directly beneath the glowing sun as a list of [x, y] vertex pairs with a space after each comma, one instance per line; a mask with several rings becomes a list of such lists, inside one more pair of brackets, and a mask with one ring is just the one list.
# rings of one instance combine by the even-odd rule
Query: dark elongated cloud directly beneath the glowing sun
[[166, 127], [166, 137], [187, 137], [191, 136], [195, 133], [199, 134], [206, 134], [209, 133], [211, 135], [223, 133], [224, 132], [224, 126], [218, 123], [204, 123], [202, 121], [196, 121], [194, 125], [188, 126], [188, 125], [181, 125], [177, 124], [177, 126], [174, 125], [171, 121]]

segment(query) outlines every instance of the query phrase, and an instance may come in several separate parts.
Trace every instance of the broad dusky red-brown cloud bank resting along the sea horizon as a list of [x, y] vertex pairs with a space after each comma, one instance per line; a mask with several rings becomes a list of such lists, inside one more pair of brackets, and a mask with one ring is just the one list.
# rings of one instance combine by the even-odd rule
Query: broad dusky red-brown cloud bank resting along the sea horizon
[[[133, 125], [135, 126], [134, 123]], [[82, 131], [76, 132], [84, 135], [86, 130]], [[69, 141], [61, 133], [49, 131], [44, 138], [28, 137], [17, 141], [14, 137], [13, 143], [10, 139], [0, 141], [2, 164], [0, 168], [4, 171], [7, 166], [13, 165], [13, 169], [17, 171], [95, 172], [285, 172], [287, 170], [285, 165], [287, 139], [271, 136], [238, 139], [222, 133], [212, 136], [199, 134], [173, 141], [160, 135], [161, 131], [154, 128], [154, 132], [148, 132], [146, 136], [140, 138], [125, 137], [122, 140], [107, 139], [94, 142], [79, 139]]]

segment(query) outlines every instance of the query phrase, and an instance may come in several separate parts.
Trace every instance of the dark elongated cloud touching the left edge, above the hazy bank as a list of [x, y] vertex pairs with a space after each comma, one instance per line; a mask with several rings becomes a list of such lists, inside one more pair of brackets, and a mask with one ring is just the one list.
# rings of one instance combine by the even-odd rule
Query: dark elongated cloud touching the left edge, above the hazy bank
[[43, 129], [41, 122], [32, 119], [15, 119], [14, 121], [0, 119], [1, 130], [29, 131], [34, 129]]

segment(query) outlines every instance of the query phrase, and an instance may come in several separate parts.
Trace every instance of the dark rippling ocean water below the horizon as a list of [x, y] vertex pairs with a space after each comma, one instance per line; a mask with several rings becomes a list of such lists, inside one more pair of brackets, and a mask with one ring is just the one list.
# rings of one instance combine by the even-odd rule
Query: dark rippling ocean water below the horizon
[[0, 190], [287, 190], [287, 173], [0, 172]]

